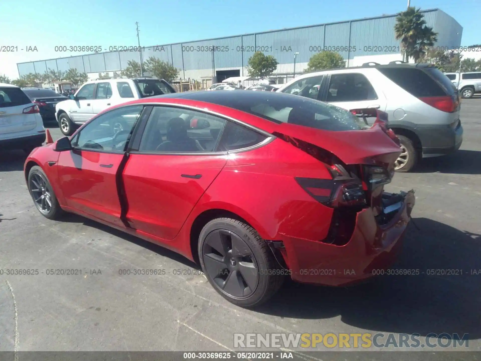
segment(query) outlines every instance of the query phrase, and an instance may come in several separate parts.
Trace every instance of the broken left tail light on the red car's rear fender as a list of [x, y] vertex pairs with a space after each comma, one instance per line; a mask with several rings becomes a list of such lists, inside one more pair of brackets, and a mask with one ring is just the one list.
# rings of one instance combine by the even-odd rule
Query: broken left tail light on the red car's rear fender
[[362, 182], [348, 179], [315, 179], [296, 177], [297, 183], [316, 201], [325, 206], [339, 208], [344, 206], [366, 206], [366, 195]]

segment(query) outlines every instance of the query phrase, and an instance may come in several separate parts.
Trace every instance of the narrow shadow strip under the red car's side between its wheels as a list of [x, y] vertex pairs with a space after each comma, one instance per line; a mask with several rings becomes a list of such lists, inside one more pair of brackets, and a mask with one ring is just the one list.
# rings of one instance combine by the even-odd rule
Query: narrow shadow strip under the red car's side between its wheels
[[194, 262], [190, 261], [188, 258], [178, 254], [177, 252], [171, 251], [165, 247], [160, 245], [156, 245], [155, 243], [144, 241], [143, 239], [136, 237], [134, 235], [128, 234], [126, 232], [122, 232], [116, 230], [115, 228], [106, 226], [102, 223], [96, 222], [94, 220], [78, 216], [73, 213], [67, 213], [65, 216], [62, 217], [62, 222], [72, 222], [72, 223], [83, 223], [87, 227], [93, 227], [100, 231], [110, 233], [116, 237], [125, 239], [128, 242], [134, 243], [139, 245], [140, 247], [146, 248], [152, 252], [157, 253], [160, 256], [168, 257], [172, 260], [180, 262], [187, 267], [193, 268], [195, 270], [201, 270], [201, 267], [195, 264]]

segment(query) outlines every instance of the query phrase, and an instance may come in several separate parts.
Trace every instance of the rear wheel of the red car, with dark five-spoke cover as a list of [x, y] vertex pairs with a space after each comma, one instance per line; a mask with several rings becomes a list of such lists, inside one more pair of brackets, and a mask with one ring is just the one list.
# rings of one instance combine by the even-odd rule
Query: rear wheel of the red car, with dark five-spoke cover
[[[220, 244], [215, 242], [217, 236]], [[224, 245], [229, 242], [230, 250], [226, 253], [228, 246]], [[224, 250], [217, 251], [220, 247]], [[261, 305], [278, 291], [284, 281], [283, 272], [266, 241], [251, 226], [237, 219], [217, 218], [208, 222], [199, 235], [198, 253], [209, 283], [237, 306]]]

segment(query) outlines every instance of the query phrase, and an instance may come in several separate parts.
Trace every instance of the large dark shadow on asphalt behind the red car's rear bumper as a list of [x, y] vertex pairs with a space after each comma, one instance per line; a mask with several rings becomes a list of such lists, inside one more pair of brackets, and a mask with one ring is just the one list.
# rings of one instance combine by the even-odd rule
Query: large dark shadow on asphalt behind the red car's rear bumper
[[[417, 218], [415, 223], [419, 229], [409, 225], [392, 269], [419, 270], [419, 275], [384, 275], [341, 288], [289, 281], [256, 311], [318, 320], [340, 315], [348, 325], [384, 333], [481, 338], [480, 234], [432, 219]], [[445, 270], [456, 275], [436, 275]]]

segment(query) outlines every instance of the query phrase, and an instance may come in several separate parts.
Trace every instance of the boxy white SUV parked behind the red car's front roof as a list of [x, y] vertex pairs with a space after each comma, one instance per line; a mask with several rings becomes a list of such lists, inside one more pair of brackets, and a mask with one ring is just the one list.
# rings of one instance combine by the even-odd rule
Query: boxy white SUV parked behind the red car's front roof
[[62, 133], [72, 135], [79, 125], [111, 106], [175, 92], [163, 79], [139, 77], [88, 81], [75, 95], [70, 95], [69, 100], [57, 103], [55, 118]]

